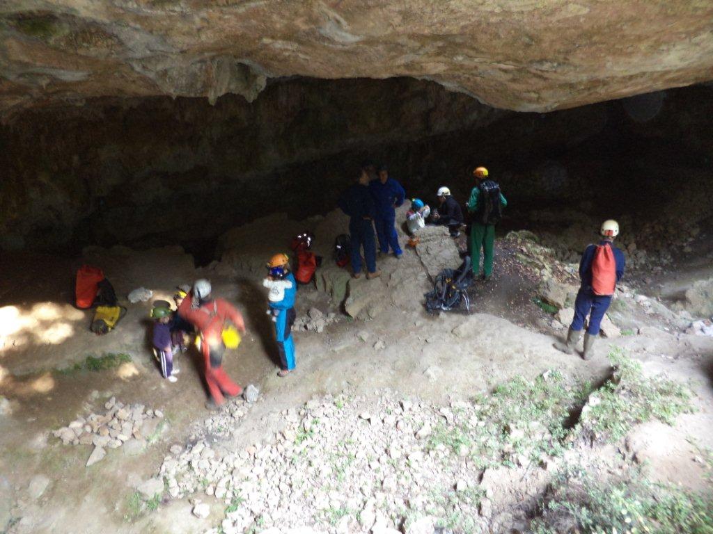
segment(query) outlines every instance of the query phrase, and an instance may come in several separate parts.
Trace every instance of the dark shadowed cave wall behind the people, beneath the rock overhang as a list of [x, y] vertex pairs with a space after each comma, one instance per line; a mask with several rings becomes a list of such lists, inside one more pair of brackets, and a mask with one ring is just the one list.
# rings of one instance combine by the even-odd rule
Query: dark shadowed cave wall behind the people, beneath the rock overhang
[[[655, 217], [672, 176], [685, 177], [677, 191], [710, 185], [712, 96], [700, 85], [517, 113], [411, 78], [292, 78], [252, 103], [101, 98], [27, 110], [0, 127], [0, 246], [194, 248], [271, 212], [333, 209], [364, 159], [386, 162], [427, 201], [441, 184], [465, 199], [469, 170], [486, 164], [513, 221], [545, 208]], [[709, 206], [696, 206], [701, 219]]]

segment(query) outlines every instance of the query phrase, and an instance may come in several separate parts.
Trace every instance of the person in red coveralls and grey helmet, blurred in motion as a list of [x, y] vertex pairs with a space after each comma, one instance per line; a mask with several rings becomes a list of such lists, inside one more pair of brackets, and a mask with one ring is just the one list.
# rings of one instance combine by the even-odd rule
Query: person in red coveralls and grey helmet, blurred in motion
[[218, 409], [227, 397], [237, 397], [242, 387], [235, 384], [222, 367], [225, 343], [222, 331], [230, 321], [240, 333], [245, 334], [245, 321], [230, 303], [222, 298], [212, 298], [210, 282], [205, 279], [195, 281], [193, 290], [184, 298], [178, 308], [178, 315], [194, 327], [200, 337], [200, 352], [205, 359], [205, 382], [208, 384], [210, 399], [207, 409]]

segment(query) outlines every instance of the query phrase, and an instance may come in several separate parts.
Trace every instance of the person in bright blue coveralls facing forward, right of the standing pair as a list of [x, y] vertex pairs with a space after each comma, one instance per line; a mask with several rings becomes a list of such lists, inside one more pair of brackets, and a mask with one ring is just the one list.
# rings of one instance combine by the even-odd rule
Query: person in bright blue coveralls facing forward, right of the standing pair
[[390, 247], [394, 251], [394, 256], [401, 258], [402, 251], [399, 246], [399, 236], [396, 234], [394, 208], [404, 204], [406, 192], [399, 182], [389, 177], [389, 169], [385, 165], [379, 167], [379, 177], [369, 182], [369, 191], [376, 204], [374, 226], [376, 226], [376, 237], [379, 238], [381, 253], [389, 253]]

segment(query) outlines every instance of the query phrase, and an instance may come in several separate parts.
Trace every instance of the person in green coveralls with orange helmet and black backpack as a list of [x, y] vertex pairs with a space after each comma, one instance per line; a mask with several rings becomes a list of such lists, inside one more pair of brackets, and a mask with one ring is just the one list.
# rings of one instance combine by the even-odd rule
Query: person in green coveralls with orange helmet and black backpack
[[476, 187], [468, 200], [468, 213], [471, 214], [471, 260], [473, 275], [478, 275], [481, 267], [481, 248], [483, 249], [484, 281], [493, 276], [493, 247], [495, 246], [495, 226], [500, 222], [503, 208], [508, 201], [500, 191], [500, 185], [488, 179], [488, 169], [477, 167], [473, 171]]

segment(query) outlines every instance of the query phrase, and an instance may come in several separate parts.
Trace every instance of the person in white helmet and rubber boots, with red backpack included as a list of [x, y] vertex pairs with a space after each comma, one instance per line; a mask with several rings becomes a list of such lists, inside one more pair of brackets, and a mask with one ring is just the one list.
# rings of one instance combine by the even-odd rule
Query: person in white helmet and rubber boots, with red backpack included
[[567, 340], [558, 341], [557, 350], [572, 354], [579, 342], [584, 322], [589, 315], [589, 325], [584, 336], [582, 357], [589, 360], [593, 355], [594, 340], [599, 335], [602, 318], [612, 301], [617, 282], [624, 275], [624, 253], [613, 245], [619, 235], [619, 223], [612, 219], [604, 221], [600, 229], [602, 241], [588, 246], [580, 261], [580, 289], [575, 300], [575, 318], [567, 331]]

